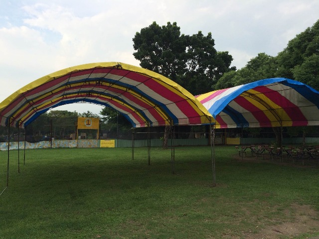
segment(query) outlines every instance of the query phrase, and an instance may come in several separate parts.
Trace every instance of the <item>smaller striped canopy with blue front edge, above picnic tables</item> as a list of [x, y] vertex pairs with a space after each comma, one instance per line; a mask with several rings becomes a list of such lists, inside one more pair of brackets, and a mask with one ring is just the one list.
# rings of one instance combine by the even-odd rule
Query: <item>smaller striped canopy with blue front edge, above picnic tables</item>
[[319, 125], [319, 92], [298, 81], [272, 78], [196, 96], [216, 127]]

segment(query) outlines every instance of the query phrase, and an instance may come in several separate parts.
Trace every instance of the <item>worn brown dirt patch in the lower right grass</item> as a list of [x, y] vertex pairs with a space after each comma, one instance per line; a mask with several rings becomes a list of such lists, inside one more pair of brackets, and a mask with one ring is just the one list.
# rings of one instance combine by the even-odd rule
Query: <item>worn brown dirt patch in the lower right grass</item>
[[294, 220], [278, 225], [266, 226], [258, 233], [244, 233], [245, 239], [279, 239], [293, 238], [301, 234], [319, 234], [319, 213], [309, 205], [293, 204], [291, 210]]

